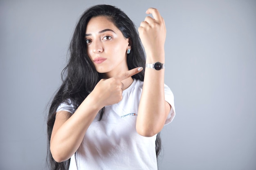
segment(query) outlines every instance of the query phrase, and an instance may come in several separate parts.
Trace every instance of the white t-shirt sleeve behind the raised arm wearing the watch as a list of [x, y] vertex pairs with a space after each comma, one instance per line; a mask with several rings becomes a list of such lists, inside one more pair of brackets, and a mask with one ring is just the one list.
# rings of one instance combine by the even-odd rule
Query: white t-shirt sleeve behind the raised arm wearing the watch
[[171, 89], [164, 84], [164, 96], [165, 101], [168, 102], [171, 105], [170, 113], [167, 116], [167, 119], [165, 121], [165, 125], [171, 123], [173, 121], [173, 118], [175, 117], [175, 106], [174, 106], [174, 96]]

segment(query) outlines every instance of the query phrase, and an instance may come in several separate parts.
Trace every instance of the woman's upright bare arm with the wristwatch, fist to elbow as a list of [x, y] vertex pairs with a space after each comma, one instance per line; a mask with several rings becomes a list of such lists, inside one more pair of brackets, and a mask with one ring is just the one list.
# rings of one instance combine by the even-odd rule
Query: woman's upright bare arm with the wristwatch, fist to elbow
[[[150, 8], [146, 13], [153, 15], [153, 18], [147, 16], [139, 27], [139, 36], [146, 52], [146, 63], [164, 63], [164, 19], [157, 9]], [[157, 134], [162, 130], [170, 110], [171, 106], [164, 98], [164, 69], [146, 68], [136, 122], [137, 132], [146, 137]]]

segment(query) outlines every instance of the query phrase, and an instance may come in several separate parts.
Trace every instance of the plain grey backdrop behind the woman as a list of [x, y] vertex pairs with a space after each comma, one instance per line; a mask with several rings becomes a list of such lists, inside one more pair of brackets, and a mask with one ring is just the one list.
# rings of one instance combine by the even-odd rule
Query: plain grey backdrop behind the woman
[[255, 170], [255, 0], [1, 0], [0, 170], [45, 169], [47, 103], [79, 16], [101, 3], [137, 26], [148, 7], [165, 19], [177, 115], [159, 170]]

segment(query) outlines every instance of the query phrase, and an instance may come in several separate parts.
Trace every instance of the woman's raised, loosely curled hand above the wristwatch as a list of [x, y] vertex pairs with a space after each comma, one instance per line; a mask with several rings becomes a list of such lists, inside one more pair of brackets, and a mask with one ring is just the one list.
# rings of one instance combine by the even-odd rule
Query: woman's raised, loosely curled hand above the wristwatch
[[147, 58], [152, 62], [163, 62], [166, 27], [164, 19], [155, 8], [149, 8], [147, 14], [152, 13], [153, 18], [147, 16], [139, 26], [139, 37], [144, 46]]

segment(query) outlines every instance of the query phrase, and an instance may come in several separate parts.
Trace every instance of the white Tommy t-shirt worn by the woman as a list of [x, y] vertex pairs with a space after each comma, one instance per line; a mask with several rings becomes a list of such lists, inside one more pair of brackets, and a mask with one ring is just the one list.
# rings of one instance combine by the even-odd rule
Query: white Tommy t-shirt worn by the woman
[[[136, 131], [136, 119], [143, 82], [134, 79], [123, 91], [123, 99], [105, 106], [101, 121], [99, 114], [85, 133], [81, 146], [71, 157], [69, 170], [157, 170], [155, 139], [143, 137]], [[173, 93], [164, 85], [165, 100], [171, 111], [165, 124], [175, 116]], [[65, 103], [57, 111], [74, 113]]]

